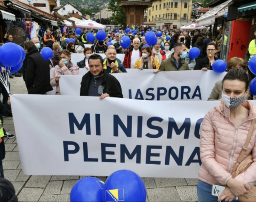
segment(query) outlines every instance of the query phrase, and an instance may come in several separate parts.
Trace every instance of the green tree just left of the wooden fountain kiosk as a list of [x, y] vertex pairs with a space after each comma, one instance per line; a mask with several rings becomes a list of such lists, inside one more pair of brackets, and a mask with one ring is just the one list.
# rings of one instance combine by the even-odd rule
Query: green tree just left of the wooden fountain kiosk
[[125, 9], [122, 7], [119, 7], [119, 3], [123, 0], [110, 0], [109, 3], [109, 9], [114, 12], [112, 16], [110, 16], [111, 24], [122, 24], [126, 25], [126, 14]]

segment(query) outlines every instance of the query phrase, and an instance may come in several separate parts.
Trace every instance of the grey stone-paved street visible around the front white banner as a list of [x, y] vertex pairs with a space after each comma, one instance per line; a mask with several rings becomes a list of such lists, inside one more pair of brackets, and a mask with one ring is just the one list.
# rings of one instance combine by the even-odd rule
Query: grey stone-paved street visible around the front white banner
[[[27, 93], [22, 77], [10, 79], [11, 93]], [[1, 97], [2, 98], [2, 97]], [[15, 134], [12, 117], [4, 117], [4, 129]], [[33, 134], [31, 134], [33, 135]], [[84, 176], [30, 176], [22, 172], [16, 138], [5, 138], [4, 177], [12, 182], [20, 202], [66, 202], [72, 186]], [[170, 170], [171, 172], [171, 170]], [[106, 181], [106, 178], [101, 178]], [[143, 178], [150, 202], [197, 201], [197, 179]]]

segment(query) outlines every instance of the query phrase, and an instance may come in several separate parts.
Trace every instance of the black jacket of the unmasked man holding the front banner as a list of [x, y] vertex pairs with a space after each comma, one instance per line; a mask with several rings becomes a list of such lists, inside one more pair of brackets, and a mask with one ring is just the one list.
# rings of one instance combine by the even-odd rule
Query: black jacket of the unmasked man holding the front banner
[[[103, 69], [103, 73], [104, 73], [103, 82], [102, 82], [102, 86], [104, 86], [103, 93], [108, 93], [110, 97], [123, 98], [122, 88], [119, 81], [114, 76], [107, 73], [105, 69]], [[83, 76], [82, 82], [81, 82], [80, 96], [88, 96], [92, 77], [93, 77], [93, 74], [90, 71]]]

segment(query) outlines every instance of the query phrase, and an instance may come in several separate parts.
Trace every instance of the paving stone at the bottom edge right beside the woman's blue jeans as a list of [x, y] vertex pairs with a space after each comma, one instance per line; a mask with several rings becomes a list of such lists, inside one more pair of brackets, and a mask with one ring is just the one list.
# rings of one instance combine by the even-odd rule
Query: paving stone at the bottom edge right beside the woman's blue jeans
[[197, 201], [196, 186], [179, 186], [176, 187], [182, 201]]

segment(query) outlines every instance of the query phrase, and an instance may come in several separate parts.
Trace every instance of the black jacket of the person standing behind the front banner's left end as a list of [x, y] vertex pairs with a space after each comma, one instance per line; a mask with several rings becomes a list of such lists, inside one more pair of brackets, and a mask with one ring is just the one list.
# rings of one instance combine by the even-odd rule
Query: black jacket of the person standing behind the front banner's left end
[[26, 58], [26, 86], [28, 94], [45, 94], [50, 85], [49, 61], [44, 60], [37, 49], [31, 50]]

